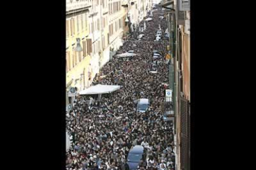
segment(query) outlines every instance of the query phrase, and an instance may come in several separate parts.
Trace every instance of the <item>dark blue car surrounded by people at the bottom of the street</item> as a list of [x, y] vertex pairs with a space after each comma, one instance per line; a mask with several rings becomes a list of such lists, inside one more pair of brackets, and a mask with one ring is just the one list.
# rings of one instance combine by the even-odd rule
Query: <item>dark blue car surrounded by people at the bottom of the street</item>
[[130, 149], [127, 158], [129, 170], [135, 170], [139, 166], [140, 161], [145, 161], [147, 157], [146, 150], [141, 145], [135, 145]]

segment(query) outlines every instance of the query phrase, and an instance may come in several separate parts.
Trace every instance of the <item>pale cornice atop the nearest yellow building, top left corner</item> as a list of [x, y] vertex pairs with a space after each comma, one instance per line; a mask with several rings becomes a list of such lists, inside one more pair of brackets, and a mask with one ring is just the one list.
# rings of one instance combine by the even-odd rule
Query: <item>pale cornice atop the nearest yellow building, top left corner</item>
[[70, 0], [66, 1], [66, 14], [71, 14], [74, 10], [76, 12], [79, 12], [81, 10], [88, 9], [90, 6], [92, 6], [92, 3], [89, 1], [75, 1], [73, 0], [70, 2]]

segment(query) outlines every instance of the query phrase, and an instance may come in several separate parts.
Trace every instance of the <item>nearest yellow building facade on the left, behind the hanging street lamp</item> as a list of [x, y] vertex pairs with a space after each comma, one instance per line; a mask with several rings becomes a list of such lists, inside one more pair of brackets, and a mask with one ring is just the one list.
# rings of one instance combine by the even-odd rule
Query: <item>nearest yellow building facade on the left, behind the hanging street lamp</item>
[[[88, 68], [91, 56], [91, 41], [88, 27], [90, 1], [66, 1], [66, 88], [77, 90], [89, 86]], [[76, 52], [77, 38], [80, 40], [82, 52]]]

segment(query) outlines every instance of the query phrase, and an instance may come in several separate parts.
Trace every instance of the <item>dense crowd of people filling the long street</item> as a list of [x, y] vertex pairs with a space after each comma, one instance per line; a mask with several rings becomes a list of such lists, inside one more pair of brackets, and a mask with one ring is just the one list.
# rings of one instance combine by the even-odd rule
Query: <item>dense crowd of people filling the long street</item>
[[[143, 29], [135, 28], [126, 37], [92, 84], [119, 85], [121, 89], [100, 98], [80, 95], [66, 113], [72, 141], [66, 152], [67, 170], [175, 169], [173, 123], [163, 119], [168, 41], [164, 35], [161, 41], [155, 41], [156, 32], [161, 28], [164, 34], [168, 22], [160, 19], [161, 10], [155, 12], [153, 20], [140, 23]], [[139, 34], [144, 34], [140, 40]], [[137, 55], [117, 57], [128, 51]], [[159, 57], [153, 57], [153, 51], [158, 51]], [[139, 99], [149, 100], [147, 110], [137, 110]], [[138, 155], [128, 155], [137, 145], [143, 147], [143, 156], [134, 163], [132, 160]]]

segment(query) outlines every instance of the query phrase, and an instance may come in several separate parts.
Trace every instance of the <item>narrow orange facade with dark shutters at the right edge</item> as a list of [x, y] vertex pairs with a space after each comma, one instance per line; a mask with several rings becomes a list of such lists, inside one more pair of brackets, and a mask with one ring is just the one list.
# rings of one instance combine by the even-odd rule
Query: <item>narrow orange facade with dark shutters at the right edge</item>
[[176, 165], [190, 169], [190, 4], [175, 0], [176, 9]]

